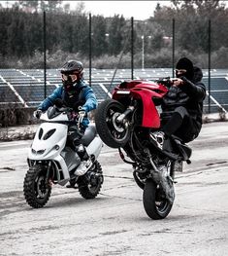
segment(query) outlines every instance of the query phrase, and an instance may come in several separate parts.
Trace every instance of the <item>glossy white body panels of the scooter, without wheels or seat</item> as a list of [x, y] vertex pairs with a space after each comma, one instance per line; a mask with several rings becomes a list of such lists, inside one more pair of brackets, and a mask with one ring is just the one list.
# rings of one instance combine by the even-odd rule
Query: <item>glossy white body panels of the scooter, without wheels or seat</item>
[[[67, 114], [63, 112], [55, 118], [49, 119], [46, 112], [41, 115], [41, 120], [48, 122], [41, 124], [37, 129], [35, 138], [29, 149], [28, 160], [30, 163], [43, 161], [53, 163], [58, 177], [58, 183], [65, 185], [70, 179], [69, 171], [77, 168], [81, 163], [78, 154], [69, 149], [69, 147], [65, 147], [68, 133], [67, 122], [69, 121]], [[102, 146], [103, 143], [100, 137], [96, 135], [86, 148], [86, 151], [89, 156], [93, 155], [96, 160], [101, 152]]]

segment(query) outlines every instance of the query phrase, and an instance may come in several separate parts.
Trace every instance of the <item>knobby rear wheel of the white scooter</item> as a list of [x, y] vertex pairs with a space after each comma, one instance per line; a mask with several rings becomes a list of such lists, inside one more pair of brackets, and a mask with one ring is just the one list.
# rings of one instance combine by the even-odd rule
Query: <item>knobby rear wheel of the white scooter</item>
[[92, 200], [99, 194], [104, 177], [101, 165], [96, 161], [91, 168], [79, 179], [79, 191], [85, 200]]

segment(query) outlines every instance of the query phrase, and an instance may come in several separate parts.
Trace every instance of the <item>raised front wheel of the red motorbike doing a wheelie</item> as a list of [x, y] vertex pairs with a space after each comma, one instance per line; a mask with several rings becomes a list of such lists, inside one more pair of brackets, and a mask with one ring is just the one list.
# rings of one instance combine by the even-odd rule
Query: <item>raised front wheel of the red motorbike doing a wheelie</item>
[[112, 148], [123, 147], [129, 139], [127, 125], [117, 122], [125, 107], [114, 99], [103, 101], [97, 108], [95, 123], [101, 139]]

